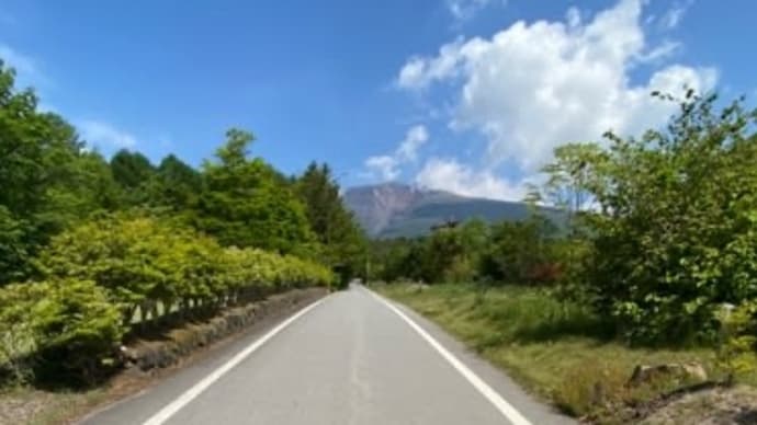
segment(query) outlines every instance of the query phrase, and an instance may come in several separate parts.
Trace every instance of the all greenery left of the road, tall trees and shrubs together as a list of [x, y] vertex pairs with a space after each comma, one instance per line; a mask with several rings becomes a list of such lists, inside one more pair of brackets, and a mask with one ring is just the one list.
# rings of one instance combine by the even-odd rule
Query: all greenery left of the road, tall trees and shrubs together
[[0, 392], [97, 387], [129, 338], [363, 269], [328, 165], [284, 175], [240, 129], [199, 169], [106, 159], [37, 105], [0, 61]]

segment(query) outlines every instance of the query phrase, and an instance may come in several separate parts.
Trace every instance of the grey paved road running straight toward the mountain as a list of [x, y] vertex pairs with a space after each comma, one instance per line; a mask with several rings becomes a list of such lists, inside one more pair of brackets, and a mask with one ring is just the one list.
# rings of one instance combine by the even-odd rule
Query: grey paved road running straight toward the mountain
[[[526, 418], [521, 423], [570, 423], [532, 401], [436, 325], [405, 308], [400, 311], [459, 359], [473, 380], [494, 390], [495, 401], [501, 395], [516, 416]], [[240, 359], [239, 352], [249, 351], [260, 336], [249, 335], [84, 424], [156, 424], [158, 418], [171, 425], [517, 422], [397, 312], [361, 287], [327, 297]], [[240, 361], [218, 376], [218, 368], [235, 356]], [[199, 391], [201, 381], [207, 386]]]

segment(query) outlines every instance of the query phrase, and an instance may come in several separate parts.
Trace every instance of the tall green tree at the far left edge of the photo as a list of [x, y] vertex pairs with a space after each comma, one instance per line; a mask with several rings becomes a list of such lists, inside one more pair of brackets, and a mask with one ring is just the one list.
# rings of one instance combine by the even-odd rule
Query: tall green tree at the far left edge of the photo
[[108, 173], [94, 172], [102, 162], [63, 118], [37, 111], [31, 89], [14, 83], [0, 61], [0, 284], [26, 275], [29, 257], [52, 234], [111, 202], [93, 195], [109, 184]]

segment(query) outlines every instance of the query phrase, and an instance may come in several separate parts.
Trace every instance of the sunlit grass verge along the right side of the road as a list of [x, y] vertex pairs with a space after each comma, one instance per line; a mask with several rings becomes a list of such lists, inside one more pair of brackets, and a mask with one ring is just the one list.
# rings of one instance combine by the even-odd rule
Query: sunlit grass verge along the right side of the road
[[[614, 423], [618, 405], [693, 383], [670, 379], [629, 388], [636, 365], [697, 361], [712, 378], [720, 378], [712, 349], [631, 348], [613, 340], [612, 330], [588, 308], [561, 302], [544, 290], [402, 284], [377, 290], [433, 320], [573, 416]], [[745, 378], [757, 383], [754, 376]]]

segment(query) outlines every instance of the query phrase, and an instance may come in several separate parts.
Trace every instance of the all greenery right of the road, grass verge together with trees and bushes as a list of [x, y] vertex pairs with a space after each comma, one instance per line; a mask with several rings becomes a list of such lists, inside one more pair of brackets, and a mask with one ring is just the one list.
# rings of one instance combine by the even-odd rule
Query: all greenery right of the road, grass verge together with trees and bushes
[[374, 241], [372, 278], [430, 284], [384, 291], [577, 416], [696, 383], [631, 386], [636, 366], [696, 361], [718, 383], [757, 383], [757, 112], [653, 95], [680, 106], [667, 128], [556, 149], [530, 200], [561, 222]]

